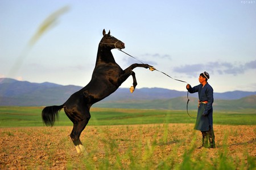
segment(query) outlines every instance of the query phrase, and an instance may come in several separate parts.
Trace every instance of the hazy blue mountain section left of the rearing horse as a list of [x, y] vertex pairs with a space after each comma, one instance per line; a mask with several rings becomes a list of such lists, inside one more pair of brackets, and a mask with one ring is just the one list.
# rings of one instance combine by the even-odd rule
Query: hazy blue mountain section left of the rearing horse
[[63, 86], [49, 82], [31, 83], [0, 78], [0, 106], [60, 105], [80, 86]]

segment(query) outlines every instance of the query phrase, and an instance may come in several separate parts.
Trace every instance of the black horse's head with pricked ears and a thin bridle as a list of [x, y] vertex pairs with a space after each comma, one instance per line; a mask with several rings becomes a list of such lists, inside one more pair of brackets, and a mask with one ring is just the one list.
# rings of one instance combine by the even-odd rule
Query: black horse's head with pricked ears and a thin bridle
[[100, 42], [101, 47], [106, 47], [110, 49], [125, 48], [125, 43], [121, 42], [120, 40], [114, 38], [114, 36], [110, 35], [110, 31], [108, 34], [106, 34], [106, 31], [104, 29], [102, 33], [103, 33], [103, 38], [101, 39], [101, 42]]

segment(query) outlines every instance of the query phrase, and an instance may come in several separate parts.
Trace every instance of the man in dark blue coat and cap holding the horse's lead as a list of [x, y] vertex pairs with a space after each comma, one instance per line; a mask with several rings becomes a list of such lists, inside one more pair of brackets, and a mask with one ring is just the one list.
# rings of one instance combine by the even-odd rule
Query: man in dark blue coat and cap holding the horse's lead
[[[186, 88], [189, 93], [198, 92], [199, 103], [196, 118], [195, 130], [200, 130], [203, 135], [203, 144], [201, 147], [215, 148], [214, 132], [213, 132], [213, 88], [208, 84], [210, 78], [207, 72], [201, 73], [199, 76], [200, 85], [194, 86], [187, 84]], [[210, 145], [208, 146], [208, 139]]]

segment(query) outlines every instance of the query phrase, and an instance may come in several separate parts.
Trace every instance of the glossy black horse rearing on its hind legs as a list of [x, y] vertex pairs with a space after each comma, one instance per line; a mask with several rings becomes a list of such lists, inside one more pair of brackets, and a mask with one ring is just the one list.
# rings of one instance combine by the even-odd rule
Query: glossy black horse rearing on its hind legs
[[132, 93], [137, 86], [134, 68], [154, 68], [148, 64], [132, 64], [123, 70], [115, 63], [111, 52], [114, 48], [123, 49], [125, 43], [110, 35], [110, 31], [106, 34], [103, 30], [103, 38], [98, 45], [96, 65], [89, 84], [72, 94], [63, 105], [47, 106], [42, 111], [43, 122], [46, 126], [53, 126], [59, 111], [64, 108], [65, 114], [73, 122], [70, 136], [78, 154], [86, 152], [80, 141], [80, 135], [89, 122], [90, 107], [115, 92], [129, 76], [133, 76], [133, 86], [130, 88]]

